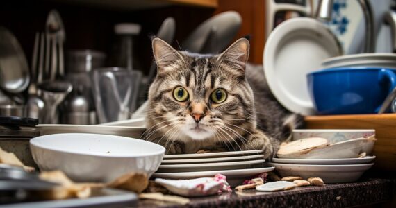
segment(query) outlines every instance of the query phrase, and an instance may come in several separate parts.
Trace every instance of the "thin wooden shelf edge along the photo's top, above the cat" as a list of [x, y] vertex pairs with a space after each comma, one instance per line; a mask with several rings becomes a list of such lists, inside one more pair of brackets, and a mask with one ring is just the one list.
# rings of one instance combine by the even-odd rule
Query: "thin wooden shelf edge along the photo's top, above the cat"
[[218, 0], [49, 0], [63, 3], [73, 3], [99, 8], [112, 8], [118, 10], [142, 10], [160, 8], [172, 5], [188, 5], [206, 8], [217, 8]]

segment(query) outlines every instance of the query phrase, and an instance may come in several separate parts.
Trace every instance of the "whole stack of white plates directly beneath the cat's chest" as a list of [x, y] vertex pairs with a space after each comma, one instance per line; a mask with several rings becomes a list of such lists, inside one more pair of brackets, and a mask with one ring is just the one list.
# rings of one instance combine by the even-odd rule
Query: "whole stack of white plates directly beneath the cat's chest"
[[153, 177], [192, 179], [220, 173], [234, 187], [254, 175], [274, 170], [274, 167], [264, 167], [263, 156], [262, 150], [165, 155]]

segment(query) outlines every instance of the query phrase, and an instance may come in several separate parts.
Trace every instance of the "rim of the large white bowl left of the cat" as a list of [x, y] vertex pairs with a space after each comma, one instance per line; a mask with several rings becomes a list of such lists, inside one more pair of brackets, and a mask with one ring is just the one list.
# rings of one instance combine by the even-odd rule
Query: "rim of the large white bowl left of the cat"
[[[151, 146], [158, 146], [160, 148], [160, 150], [156, 150], [153, 153], [142, 153], [142, 154], [139, 154], [139, 155], [103, 155], [103, 154], [99, 154], [99, 153], [81, 153], [81, 152], [78, 152], [78, 151], [75, 151], [75, 150], [65, 150], [65, 149], [58, 148], [58, 147], [57, 148], [53, 148], [53, 147], [49, 148], [48, 146], [45, 146], [45, 145], [43, 146], [42, 144], [35, 143], [35, 141], [38, 140], [38, 139], [42, 139], [43, 137], [45, 139], [47, 139], [46, 137], [51, 137], [53, 135], [96, 135], [96, 136], [99, 136], [99, 137], [104, 136], [104, 137], [117, 137], [117, 138], [120, 138], [120, 139], [132, 139], [132, 140], [138, 140], [139, 142], [148, 142], [149, 145], [151, 145]], [[151, 142], [151, 141], [145, 141], [145, 140], [136, 139], [136, 138], [133, 138], [133, 137], [123, 137], [123, 136], [118, 136], [118, 135], [92, 134], [92, 133], [61, 133], [61, 134], [53, 134], [53, 135], [42, 135], [42, 136], [39, 136], [39, 137], [34, 137], [34, 138], [29, 140], [29, 144], [30, 144], [31, 147], [33, 146], [34, 148], [41, 148], [41, 149], [44, 149], [44, 150], [56, 151], [56, 152], [59, 152], [59, 153], [67, 153], [67, 154], [83, 155], [83, 156], [94, 156], [94, 157], [136, 158], [136, 157], [148, 157], [148, 156], [156, 156], [156, 155], [165, 155], [165, 147], [160, 146], [159, 144], [156, 144], [156, 143]], [[33, 154], [34, 148], [31, 148], [32, 154]]]

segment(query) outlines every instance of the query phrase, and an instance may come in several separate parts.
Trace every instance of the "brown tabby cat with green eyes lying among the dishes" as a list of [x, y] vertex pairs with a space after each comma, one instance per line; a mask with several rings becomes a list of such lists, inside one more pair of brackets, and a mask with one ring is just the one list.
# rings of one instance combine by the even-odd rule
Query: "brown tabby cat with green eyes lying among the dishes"
[[152, 45], [158, 73], [142, 138], [165, 146], [167, 154], [259, 149], [271, 158], [302, 124], [271, 94], [262, 67], [247, 64], [245, 38], [219, 55], [176, 51], [159, 38]]

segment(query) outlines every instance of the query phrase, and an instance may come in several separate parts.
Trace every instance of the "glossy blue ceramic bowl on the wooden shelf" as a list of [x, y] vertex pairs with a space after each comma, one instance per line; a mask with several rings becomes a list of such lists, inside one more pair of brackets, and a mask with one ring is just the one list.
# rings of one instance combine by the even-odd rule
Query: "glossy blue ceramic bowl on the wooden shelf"
[[348, 67], [307, 75], [308, 90], [319, 114], [377, 113], [396, 86], [396, 69]]

